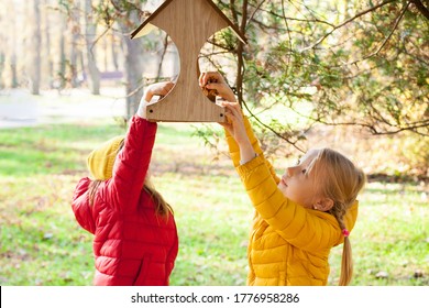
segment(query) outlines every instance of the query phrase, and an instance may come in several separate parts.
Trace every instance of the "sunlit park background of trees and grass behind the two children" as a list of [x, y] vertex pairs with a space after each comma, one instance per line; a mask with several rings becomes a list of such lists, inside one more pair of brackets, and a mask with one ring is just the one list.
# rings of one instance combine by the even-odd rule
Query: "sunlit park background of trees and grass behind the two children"
[[[107, 120], [81, 116], [69, 123], [65, 117], [0, 130], [2, 285], [90, 284], [90, 237], [73, 221], [70, 194], [86, 176], [86, 154], [124, 132], [144, 87], [179, 74], [178, 51], [165, 32], [130, 40], [162, 2], [0, 0], [0, 120], [25, 122], [20, 116], [29, 103], [78, 106], [85, 114], [113, 101], [105, 106], [116, 110]], [[200, 68], [226, 76], [278, 173], [306, 150], [330, 146], [367, 174], [354, 284], [427, 285], [427, 1], [213, 2], [248, 44], [228, 29], [216, 33], [201, 47]], [[229, 165], [222, 130], [212, 123], [160, 127], [163, 154], [153, 173], [160, 190], [178, 204], [183, 222], [173, 282], [243, 284], [251, 209]], [[184, 197], [180, 185], [193, 194]], [[223, 230], [226, 221], [231, 224]], [[200, 224], [207, 229], [193, 233]], [[363, 238], [372, 241], [359, 243]], [[338, 257], [333, 253], [333, 264]], [[332, 272], [336, 284], [338, 265]]]

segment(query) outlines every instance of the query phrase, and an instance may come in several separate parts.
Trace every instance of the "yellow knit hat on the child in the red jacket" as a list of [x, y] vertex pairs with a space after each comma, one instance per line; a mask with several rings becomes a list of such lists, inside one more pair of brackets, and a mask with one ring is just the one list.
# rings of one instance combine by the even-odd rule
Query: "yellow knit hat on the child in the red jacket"
[[112, 177], [114, 158], [124, 136], [116, 136], [94, 150], [88, 158], [87, 165], [95, 179], [105, 180]]

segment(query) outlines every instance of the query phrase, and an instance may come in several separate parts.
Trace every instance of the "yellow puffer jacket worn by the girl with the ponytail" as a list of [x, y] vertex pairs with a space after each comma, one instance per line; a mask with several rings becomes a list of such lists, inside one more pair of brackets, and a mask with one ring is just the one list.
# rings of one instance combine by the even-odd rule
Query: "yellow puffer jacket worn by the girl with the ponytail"
[[[251, 286], [322, 286], [329, 276], [328, 257], [332, 246], [344, 238], [336, 218], [306, 209], [277, 188], [279, 183], [264, 157], [249, 120], [245, 128], [255, 158], [240, 166], [240, 151], [226, 131], [231, 158], [255, 208], [248, 258]], [[358, 217], [358, 201], [349, 209], [344, 223], [349, 231]]]

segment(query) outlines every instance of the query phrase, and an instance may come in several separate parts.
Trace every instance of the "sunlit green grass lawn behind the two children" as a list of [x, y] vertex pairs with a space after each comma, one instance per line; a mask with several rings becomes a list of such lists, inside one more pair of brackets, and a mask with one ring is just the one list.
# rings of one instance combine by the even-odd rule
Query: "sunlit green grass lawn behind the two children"
[[[108, 122], [0, 130], [0, 285], [91, 285], [92, 235], [69, 201], [89, 151], [123, 132]], [[244, 285], [251, 205], [229, 160], [213, 160], [193, 132], [160, 124], [151, 166], [178, 226], [170, 283]], [[428, 213], [426, 184], [370, 183], [351, 235], [352, 285], [428, 285]], [[330, 257], [331, 285], [341, 250]]]

